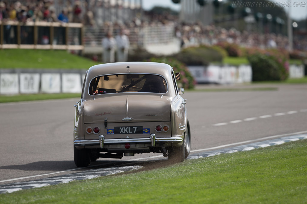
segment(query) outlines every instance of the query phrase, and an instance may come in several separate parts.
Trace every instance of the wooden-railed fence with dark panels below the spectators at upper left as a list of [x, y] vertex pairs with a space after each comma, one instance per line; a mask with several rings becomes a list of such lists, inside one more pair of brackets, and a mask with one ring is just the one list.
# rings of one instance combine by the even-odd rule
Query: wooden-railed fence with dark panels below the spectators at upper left
[[80, 23], [0, 21], [0, 48], [83, 50]]

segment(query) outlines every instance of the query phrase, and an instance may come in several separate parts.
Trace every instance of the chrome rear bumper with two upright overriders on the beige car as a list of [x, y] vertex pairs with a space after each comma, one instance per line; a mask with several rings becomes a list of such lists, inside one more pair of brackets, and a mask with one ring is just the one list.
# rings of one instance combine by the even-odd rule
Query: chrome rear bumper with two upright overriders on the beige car
[[125, 138], [125, 139], [105, 139], [103, 135], [99, 135], [99, 139], [84, 140], [78, 139], [74, 141], [74, 146], [94, 146], [99, 145], [103, 148], [104, 144], [121, 144], [121, 143], [151, 143], [154, 147], [156, 143], [181, 143], [183, 139], [179, 136], [175, 137], [158, 137], [155, 134], [150, 134], [148, 138]]

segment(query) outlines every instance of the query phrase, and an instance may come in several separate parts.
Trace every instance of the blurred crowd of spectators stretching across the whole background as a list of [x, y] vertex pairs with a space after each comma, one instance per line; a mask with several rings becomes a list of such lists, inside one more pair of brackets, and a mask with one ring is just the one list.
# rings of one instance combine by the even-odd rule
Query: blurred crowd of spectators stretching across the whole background
[[[181, 39], [183, 47], [198, 44], [214, 45], [220, 42], [259, 48], [287, 49], [289, 46], [288, 38], [285, 35], [240, 32], [234, 28], [227, 30], [214, 25], [180, 24], [178, 16], [169, 15], [168, 13], [163, 15], [147, 13], [147, 15], [142, 16], [142, 21], [140, 18], [133, 18], [133, 20], [125, 22], [104, 21], [102, 25], [97, 26], [95, 9], [91, 9], [94, 6], [91, 2], [90, 0], [66, 0], [64, 4], [63, 0], [58, 0], [57, 5], [55, 5], [52, 0], [28, 0], [24, 4], [19, 1], [0, 0], [0, 20], [83, 23], [85, 26], [93, 27], [91, 30], [93, 32], [92, 35], [95, 35], [95, 32], [107, 33], [111, 29], [118, 27], [118, 30], [129, 30], [130, 35], [137, 35], [137, 38], [139, 38], [140, 30], [144, 26], [176, 26], [175, 35]], [[91, 34], [88, 34], [87, 37], [91, 37]], [[306, 37], [303, 39], [295, 37], [293, 46], [294, 49], [307, 50]]]

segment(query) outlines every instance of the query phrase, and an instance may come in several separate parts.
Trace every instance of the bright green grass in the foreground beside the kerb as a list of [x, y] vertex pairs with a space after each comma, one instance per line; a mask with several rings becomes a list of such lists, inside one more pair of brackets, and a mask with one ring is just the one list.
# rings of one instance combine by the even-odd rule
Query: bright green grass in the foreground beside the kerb
[[307, 140], [0, 195], [1, 203], [306, 203]]

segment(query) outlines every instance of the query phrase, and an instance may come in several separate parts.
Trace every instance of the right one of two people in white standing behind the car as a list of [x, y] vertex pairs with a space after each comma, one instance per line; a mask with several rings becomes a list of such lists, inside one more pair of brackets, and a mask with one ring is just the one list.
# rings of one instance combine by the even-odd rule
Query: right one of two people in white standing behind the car
[[117, 62], [127, 61], [130, 42], [128, 36], [122, 30], [116, 36], [116, 44], [117, 44], [117, 55], [116, 55]]

